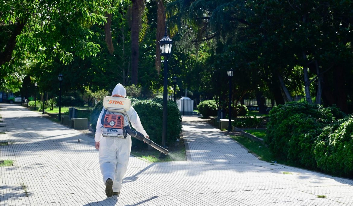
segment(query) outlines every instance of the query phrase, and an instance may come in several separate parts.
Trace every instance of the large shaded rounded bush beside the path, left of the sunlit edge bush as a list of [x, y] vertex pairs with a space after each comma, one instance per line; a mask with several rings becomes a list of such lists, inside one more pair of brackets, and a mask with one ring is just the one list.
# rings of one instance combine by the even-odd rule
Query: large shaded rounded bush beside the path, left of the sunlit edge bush
[[270, 111], [265, 143], [273, 154], [290, 163], [316, 168], [313, 143], [322, 128], [335, 120], [329, 108], [307, 102], [288, 102]]

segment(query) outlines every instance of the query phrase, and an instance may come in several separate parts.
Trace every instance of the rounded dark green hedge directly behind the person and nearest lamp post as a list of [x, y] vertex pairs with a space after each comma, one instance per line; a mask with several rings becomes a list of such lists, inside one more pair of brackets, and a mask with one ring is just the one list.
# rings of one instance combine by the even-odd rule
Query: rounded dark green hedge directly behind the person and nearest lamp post
[[[130, 98], [131, 105], [140, 117], [143, 128], [146, 130], [150, 139], [156, 144], [162, 143], [162, 123], [163, 123], [163, 100], [139, 100]], [[91, 112], [92, 129], [96, 129], [98, 116], [102, 111], [103, 103], [99, 102]], [[174, 142], [179, 138], [181, 132], [181, 115], [177, 104], [174, 101], [168, 101], [167, 105], [167, 143]], [[132, 138], [132, 145], [138, 148], [146, 148], [147, 144]]]

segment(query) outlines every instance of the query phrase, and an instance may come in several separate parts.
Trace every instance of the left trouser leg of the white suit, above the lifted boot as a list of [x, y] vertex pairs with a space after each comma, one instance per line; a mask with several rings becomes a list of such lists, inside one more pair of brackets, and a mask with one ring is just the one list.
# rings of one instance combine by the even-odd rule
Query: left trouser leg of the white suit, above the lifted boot
[[99, 145], [99, 164], [104, 184], [110, 178], [114, 181], [116, 150], [114, 137], [102, 137]]

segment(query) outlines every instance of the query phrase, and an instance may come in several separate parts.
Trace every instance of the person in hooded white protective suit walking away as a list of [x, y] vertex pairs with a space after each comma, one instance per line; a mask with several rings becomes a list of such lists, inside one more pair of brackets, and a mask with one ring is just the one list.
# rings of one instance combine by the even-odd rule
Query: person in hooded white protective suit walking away
[[[117, 84], [112, 92], [113, 95], [126, 97], [126, 90], [120, 83]], [[95, 134], [96, 149], [99, 149], [99, 164], [103, 175], [103, 182], [106, 185], [106, 195], [119, 195], [121, 189], [122, 178], [125, 175], [127, 164], [131, 151], [131, 136], [127, 135], [126, 139], [120, 137], [103, 137], [101, 123], [102, 112], [97, 120], [97, 130]], [[141, 132], [149, 139], [146, 131], [143, 129], [138, 114], [131, 106], [127, 111], [127, 116], [134, 129]]]

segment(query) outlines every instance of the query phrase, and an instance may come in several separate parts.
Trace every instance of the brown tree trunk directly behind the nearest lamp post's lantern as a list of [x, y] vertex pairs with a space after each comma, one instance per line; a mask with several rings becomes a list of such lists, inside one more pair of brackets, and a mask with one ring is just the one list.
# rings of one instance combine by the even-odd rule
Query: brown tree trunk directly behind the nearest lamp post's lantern
[[163, 37], [166, 27], [166, 14], [162, 0], [156, 0], [157, 4], [157, 30], [156, 30], [156, 59], [155, 65], [159, 75], [161, 71], [161, 53], [158, 41]]

